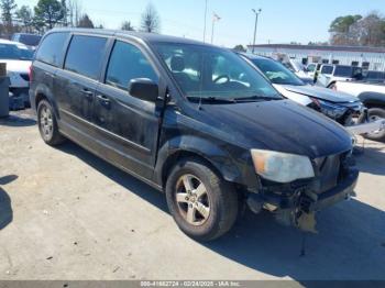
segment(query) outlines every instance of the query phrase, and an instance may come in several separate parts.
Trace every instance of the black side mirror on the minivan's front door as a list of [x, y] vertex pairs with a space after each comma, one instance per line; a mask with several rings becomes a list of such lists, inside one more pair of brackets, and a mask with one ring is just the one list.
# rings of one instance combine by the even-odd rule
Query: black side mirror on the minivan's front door
[[132, 79], [129, 84], [129, 93], [138, 99], [155, 102], [160, 89], [157, 84], [146, 78]]

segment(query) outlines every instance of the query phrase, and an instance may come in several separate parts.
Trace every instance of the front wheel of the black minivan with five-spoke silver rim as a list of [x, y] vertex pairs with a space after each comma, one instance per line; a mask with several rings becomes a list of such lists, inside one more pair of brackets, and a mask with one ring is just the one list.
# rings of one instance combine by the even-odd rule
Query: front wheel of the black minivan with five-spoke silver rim
[[166, 198], [179, 229], [196, 241], [222, 236], [238, 217], [238, 195], [232, 185], [199, 159], [182, 160], [174, 167], [167, 178]]

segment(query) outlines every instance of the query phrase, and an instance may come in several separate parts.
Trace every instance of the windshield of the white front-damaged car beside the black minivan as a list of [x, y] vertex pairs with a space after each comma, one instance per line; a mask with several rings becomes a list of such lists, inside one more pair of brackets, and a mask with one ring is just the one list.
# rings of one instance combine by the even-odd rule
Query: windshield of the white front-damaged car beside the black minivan
[[252, 63], [262, 70], [264, 75], [273, 82], [278, 85], [304, 86], [304, 81], [299, 79], [293, 71], [287, 69], [280, 63], [272, 59], [252, 59]]

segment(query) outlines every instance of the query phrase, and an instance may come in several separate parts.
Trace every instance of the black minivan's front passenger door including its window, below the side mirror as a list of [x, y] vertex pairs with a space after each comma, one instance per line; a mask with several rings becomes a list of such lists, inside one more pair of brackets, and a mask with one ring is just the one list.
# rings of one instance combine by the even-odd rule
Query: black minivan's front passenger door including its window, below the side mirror
[[135, 78], [158, 84], [152, 60], [146, 49], [116, 41], [95, 101], [97, 137], [109, 147], [114, 163], [145, 178], [155, 164], [160, 111], [155, 103], [132, 97], [128, 87]]

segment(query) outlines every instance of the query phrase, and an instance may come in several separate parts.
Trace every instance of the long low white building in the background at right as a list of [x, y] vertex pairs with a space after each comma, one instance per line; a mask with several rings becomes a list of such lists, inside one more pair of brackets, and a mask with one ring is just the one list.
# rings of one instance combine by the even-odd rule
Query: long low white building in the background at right
[[[252, 45], [248, 46], [248, 52], [253, 52]], [[302, 64], [340, 64], [360, 66], [370, 70], [385, 70], [385, 48], [382, 47], [266, 44], [255, 45], [254, 53], [267, 57], [287, 55]]]

